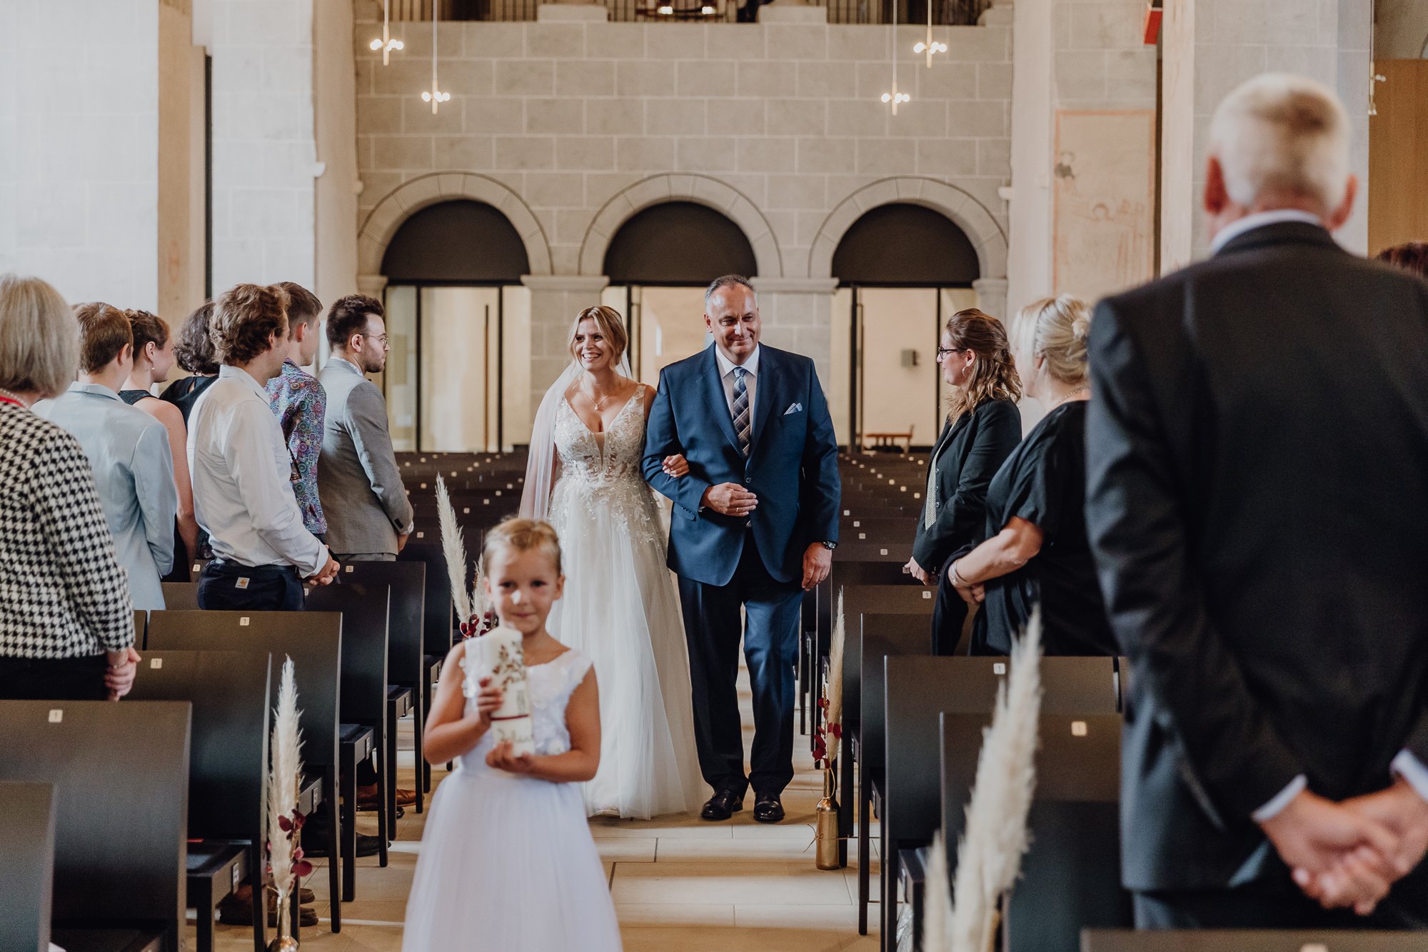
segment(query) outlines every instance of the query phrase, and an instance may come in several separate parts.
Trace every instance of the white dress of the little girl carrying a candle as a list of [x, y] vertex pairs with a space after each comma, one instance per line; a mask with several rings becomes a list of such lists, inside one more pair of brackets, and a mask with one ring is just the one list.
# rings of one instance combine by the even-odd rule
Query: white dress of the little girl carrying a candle
[[[536, 753], [570, 750], [565, 706], [590, 659], [563, 652], [526, 670]], [[443, 678], [464, 676], [443, 670]], [[466, 710], [476, 710], [474, 698]], [[488, 730], [431, 798], [403, 952], [620, 952], [615, 906], [580, 790], [487, 766], [494, 743]]]

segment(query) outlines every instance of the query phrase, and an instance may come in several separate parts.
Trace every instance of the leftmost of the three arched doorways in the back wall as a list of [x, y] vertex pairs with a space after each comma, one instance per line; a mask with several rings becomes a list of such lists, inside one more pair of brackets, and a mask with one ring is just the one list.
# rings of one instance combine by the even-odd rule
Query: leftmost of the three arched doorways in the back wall
[[530, 427], [526, 244], [494, 206], [428, 204], [381, 259], [388, 413], [398, 450], [500, 450]]

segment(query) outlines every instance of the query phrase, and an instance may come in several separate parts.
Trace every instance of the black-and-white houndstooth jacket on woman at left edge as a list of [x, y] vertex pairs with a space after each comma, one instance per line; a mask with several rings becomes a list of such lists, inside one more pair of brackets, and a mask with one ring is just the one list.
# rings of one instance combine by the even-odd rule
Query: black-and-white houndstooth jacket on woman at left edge
[[0, 656], [81, 658], [134, 643], [129, 579], [79, 440], [0, 403]]

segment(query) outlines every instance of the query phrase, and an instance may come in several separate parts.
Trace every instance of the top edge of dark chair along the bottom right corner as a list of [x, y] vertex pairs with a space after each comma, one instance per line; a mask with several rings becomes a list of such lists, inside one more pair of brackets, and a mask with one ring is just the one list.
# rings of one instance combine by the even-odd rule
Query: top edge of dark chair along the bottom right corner
[[1087, 929], [1081, 952], [1422, 952], [1422, 932]]

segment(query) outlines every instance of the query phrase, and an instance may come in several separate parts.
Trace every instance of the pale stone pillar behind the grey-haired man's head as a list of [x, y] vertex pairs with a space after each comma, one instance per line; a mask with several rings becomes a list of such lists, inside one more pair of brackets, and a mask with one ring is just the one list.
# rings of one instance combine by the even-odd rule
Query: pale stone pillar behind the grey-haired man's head
[[[1252, 9], [1251, 9], [1252, 7]], [[1272, 9], [1272, 14], [1271, 14]], [[1354, 220], [1339, 240], [1368, 243], [1368, 27], [1369, 0], [1318, 4], [1180, 0], [1167, 4], [1162, 34], [1161, 273], [1210, 249], [1201, 212], [1210, 119], [1220, 101], [1259, 73], [1297, 73], [1337, 89], [1354, 136], [1351, 167], [1359, 179]]]

